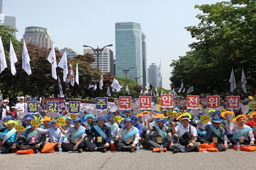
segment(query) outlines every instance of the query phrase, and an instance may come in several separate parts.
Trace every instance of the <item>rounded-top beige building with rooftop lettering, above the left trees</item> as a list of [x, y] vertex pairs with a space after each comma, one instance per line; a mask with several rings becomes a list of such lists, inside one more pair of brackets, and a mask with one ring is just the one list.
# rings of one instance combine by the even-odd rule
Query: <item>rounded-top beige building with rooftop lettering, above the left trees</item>
[[[39, 47], [46, 47], [48, 49], [53, 45], [49, 34], [49, 30], [44, 27], [27, 27], [23, 39], [26, 43], [30, 42]], [[23, 39], [21, 41], [23, 41]]]

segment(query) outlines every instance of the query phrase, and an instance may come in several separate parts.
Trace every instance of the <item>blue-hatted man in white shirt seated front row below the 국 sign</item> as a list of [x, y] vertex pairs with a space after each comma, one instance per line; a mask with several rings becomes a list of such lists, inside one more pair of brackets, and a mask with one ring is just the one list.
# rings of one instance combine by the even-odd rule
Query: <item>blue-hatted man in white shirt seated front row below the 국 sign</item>
[[[139, 130], [133, 127], [135, 120], [127, 118], [122, 120], [124, 127], [121, 128], [116, 136], [115, 146], [118, 147], [121, 151], [131, 151], [134, 152], [137, 144], [139, 143]], [[119, 141], [121, 140], [121, 141]]]

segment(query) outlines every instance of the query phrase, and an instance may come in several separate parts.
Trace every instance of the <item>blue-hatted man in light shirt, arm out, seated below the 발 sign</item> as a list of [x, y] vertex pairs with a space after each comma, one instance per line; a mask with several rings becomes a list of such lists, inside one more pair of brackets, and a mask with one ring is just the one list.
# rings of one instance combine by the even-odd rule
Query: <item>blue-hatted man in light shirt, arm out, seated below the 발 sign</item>
[[63, 152], [69, 152], [69, 151], [78, 151], [79, 153], [82, 152], [84, 149], [84, 139], [86, 139], [86, 133], [83, 126], [81, 126], [81, 123], [83, 123], [82, 118], [75, 118], [73, 120], [74, 126], [70, 127], [66, 131], [61, 128], [60, 125], [58, 125], [58, 128], [60, 129], [62, 134], [69, 134], [71, 133], [71, 140], [69, 143], [62, 143], [61, 148]]

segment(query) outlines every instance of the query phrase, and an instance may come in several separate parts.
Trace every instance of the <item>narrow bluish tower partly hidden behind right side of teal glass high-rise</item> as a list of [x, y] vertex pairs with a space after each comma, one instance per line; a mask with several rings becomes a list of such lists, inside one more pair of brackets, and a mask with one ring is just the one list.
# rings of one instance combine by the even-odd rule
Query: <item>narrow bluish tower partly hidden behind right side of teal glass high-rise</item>
[[143, 75], [143, 86], [146, 86], [147, 83], [147, 66], [146, 66], [146, 35], [142, 33], [142, 75]]

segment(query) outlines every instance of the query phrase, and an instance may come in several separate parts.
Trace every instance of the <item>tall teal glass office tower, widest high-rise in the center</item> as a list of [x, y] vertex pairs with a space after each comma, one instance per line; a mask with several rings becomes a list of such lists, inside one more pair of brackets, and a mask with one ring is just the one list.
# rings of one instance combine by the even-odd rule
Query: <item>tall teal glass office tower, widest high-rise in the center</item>
[[[116, 23], [116, 76], [127, 78], [143, 76], [142, 72], [142, 34], [140, 23]], [[134, 68], [132, 68], [134, 67]], [[122, 68], [122, 69], [119, 69]], [[131, 78], [133, 79], [133, 78]], [[143, 79], [138, 80], [142, 85]]]

